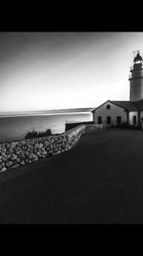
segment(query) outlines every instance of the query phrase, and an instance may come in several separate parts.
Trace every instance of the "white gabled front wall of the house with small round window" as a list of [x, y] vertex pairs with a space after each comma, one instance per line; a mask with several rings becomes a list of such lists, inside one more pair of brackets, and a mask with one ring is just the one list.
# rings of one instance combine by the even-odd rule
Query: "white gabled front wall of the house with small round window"
[[[107, 105], [111, 105], [111, 108], [107, 109]], [[117, 116], [121, 116], [121, 122], [127, 121], [127, 112], [125, 112], [125, 109], [123, 107], [113, 105], [110, 102], [101, 105], [95, 110], [95, 112], [93, 113], [94, 124], [98, 123], [98, 116], [102, 116], [103, 124], [107, 124], [107, 116], [111, 116], [113, 125], [116, 125]]]

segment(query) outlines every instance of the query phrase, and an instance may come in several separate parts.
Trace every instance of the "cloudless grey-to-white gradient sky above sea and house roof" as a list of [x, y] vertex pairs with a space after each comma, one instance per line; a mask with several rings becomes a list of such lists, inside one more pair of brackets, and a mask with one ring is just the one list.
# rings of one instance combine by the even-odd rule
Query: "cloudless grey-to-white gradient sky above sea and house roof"
[[143, 33], [0, 33], [0, 111], [128, 101]]

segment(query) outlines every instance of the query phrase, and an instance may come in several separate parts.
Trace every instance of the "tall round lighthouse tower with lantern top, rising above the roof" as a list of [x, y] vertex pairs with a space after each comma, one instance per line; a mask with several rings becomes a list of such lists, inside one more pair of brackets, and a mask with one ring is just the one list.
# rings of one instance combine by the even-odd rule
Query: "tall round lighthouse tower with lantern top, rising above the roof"
[[137, 51], [133, 59], [133, 66], [131, 67], [130, 81], [130, 101], [143, 100], [143, 58]]

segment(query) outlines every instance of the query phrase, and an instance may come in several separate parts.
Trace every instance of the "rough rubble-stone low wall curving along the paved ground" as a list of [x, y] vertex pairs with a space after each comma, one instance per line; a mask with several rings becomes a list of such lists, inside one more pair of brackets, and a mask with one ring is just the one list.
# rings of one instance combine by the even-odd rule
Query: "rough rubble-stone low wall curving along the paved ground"
[[85, 129], [79, 126], [58, 135], [0, 143], [0, 172], [70, 150]]

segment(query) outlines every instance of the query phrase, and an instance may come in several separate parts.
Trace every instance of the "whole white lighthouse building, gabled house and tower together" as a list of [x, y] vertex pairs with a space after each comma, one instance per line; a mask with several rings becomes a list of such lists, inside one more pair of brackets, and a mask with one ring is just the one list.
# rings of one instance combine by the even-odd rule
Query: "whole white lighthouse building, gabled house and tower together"
[[121, 125], [127, 123], [140, 125], [143, 118], [143, 58], [139, 51], [131, 67], [130, 101], [107, 101], [92, 110], [93, 123], [104, 125]]

